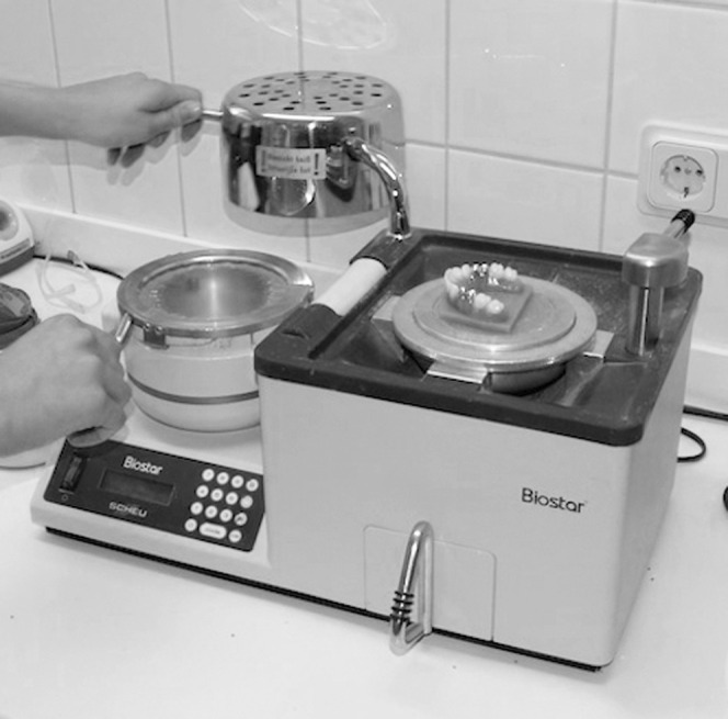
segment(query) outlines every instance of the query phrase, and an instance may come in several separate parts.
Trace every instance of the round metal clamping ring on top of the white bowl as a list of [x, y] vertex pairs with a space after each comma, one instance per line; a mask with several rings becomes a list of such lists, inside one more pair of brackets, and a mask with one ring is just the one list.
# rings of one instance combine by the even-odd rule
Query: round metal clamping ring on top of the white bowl
[[135, 325], [158, 334], [230, 337], [277, 325], [312, 293], [308, 276], [281, 257], [197, 250], [134, 270], [116, 299]]

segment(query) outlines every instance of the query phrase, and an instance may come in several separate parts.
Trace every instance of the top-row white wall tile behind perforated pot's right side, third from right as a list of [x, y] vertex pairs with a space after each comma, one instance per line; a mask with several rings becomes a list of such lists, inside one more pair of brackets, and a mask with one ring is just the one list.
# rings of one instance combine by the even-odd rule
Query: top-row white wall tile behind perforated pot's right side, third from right
[[306, 70], [348, 70], [399, 93], [408, 141], [445, 139], [445, 0], [300, 0]]

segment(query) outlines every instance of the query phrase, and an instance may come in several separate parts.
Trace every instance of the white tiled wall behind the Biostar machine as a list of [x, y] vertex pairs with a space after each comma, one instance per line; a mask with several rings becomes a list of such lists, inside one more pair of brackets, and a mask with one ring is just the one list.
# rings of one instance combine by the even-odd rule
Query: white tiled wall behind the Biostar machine
[[[214, 108], [265, 72], [383, 77], [402, 97], [419, 226], [622, 251], [666, 224], [637, 209], [641, 128], [728, 133], [728, 0], [0, 0], [0, 67], [16, 80], [140, 69], [200, 87]], [[241, 233], [217, 181], [218, 132], [207, 123], [128, 170], [81, 145], [8, 138], [0, 194], [343, 267], [366, 235]], [[695, 345], [728, 368], [728, 231], [698, 223], [693, 237], [705, 274]]]

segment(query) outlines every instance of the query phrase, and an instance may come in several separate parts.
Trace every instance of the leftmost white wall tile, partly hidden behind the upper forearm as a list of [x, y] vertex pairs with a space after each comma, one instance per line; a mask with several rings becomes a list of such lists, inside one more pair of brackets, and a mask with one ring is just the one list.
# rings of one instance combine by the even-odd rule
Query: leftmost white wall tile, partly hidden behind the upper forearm
[[[0, 67], [3, 80], [56, 86], [46, 0], [2, 0]], [[0, 138], [0, 196], [19, 203], [71, 209], [66, 144], [27, 137]]]

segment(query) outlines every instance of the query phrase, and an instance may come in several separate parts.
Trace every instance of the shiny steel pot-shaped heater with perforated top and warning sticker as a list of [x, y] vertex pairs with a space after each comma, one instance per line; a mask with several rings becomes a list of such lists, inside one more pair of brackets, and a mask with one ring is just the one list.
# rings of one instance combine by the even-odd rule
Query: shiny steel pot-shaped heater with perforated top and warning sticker
[[[357, 138], [372, 148], [368, 157], [382, 154], [403, 172], [400, 100], [384, 80], [335, 71], [266, 75], [231, 88], [220, 116], [224, 182], [234, 205], [305, 218], [314, 233], [387, 215], [391, 192], [378, 166], [344, 147]], [[275, 227], [270, 224], [271, 232]]]

